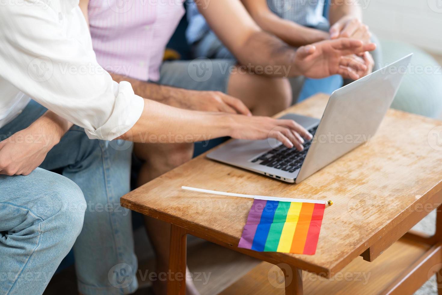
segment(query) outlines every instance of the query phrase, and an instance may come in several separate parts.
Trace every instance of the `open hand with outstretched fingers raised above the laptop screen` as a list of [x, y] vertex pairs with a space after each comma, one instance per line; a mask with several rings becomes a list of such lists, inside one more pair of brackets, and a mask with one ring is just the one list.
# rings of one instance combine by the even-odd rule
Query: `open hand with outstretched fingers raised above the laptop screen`
[[326, 40], [298, 48], [295, 65], [301, 75], [309, 78], [339, 74], [344, 78], [358, 80], [362, 77], [359, 73], [365, 72], [367, 66], [362, 59], [354, 59], [350, 55], [361, 55], [375, 49], [375, 44], [363, 44], [355, 39]]

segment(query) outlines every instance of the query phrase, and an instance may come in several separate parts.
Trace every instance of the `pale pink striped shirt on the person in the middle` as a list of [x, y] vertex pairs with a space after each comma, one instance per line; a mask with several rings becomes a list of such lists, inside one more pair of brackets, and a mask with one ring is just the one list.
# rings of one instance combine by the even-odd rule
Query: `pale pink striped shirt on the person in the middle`
[[90, 0], [97, 61], [109, 72], [158, 80], [164, 50], [183, 14], [183, 0]]

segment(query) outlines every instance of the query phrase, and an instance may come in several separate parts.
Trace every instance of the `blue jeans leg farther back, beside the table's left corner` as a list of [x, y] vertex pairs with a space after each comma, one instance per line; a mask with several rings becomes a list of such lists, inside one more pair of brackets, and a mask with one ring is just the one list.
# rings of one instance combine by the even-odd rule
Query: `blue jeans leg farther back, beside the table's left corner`
[[73, 126], [41, 165], [63, 167], [63, 176], [78, 184], [86, 199], [83, 230], [73, 248], [84, 295], [130, 294], [138, 287], [131, 214], [120, 206], [120, 198], [130, 191], [132, 146], [122, 140], [91, 140]]

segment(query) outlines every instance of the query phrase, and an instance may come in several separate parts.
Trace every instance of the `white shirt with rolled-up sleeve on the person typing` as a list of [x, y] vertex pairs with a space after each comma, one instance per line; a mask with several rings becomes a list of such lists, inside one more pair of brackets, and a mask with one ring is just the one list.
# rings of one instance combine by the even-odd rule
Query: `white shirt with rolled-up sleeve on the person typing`
[[0, 3], [0, 128], [30, 98], [112, 140], [140, 118], [144, 100], [97, 62], [78, 0]]

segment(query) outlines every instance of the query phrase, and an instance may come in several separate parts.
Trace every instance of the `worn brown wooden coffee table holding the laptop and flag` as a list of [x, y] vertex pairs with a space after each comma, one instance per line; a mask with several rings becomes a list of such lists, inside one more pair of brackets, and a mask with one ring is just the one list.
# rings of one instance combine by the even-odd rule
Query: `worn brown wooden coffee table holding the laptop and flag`
[[[320, 118], [328, 96], [317, 95], [287, 112]], [[377, 134], [300, 184], [286, 184], [210, 161], [204, 155], [152, 180], [121, 199], [124, 207], [172, 224], [171, 272], [185, 272], [186, 235], [192, 234], [272, 264], [290, 265], [286, 294], [302, 294], [301, 270], [331, 278], [358, 256], [373, 261], [405, 235], [428, 250], [389, 282], [383, 293], [414, 291], [442, 265], [442, 214], [432, 237], [409, 230], [442, 203], [442, 122], [389, 110]], [[442, 135], [442, 133], [440, 134]], [[438, 145], [439, 144], [439, 145]], [[181, 186], [256, 195], [333, 200], [327, 207], [315, 255], [264, 253], [237, 248], [252, 200], [206, 195]], [[390, 266], [391, 267], [391, 266]], [[284, 270], [287, 272], [287, 270]], [[370, 284], [376, 284], [370, 282]], [[168, 282], [184, 294], [185, 281]], [[442, 294], [442, 289], [439, 289]]]

